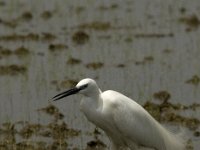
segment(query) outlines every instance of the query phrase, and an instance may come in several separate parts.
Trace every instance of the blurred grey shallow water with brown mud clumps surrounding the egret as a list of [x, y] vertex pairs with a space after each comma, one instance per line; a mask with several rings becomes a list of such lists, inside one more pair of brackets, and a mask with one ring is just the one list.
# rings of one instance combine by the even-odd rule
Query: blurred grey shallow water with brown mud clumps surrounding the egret
[[0, 0], [0, 149], [108, 150], [81, 96], [50, 100], [86, 77], [200, 149], [199, 14], [198, 0]]

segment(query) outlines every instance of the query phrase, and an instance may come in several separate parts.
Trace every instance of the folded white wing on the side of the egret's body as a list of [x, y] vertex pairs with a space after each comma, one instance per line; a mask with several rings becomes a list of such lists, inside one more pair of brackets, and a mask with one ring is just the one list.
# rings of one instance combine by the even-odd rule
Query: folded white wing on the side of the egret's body
[[114, 91], [109, 91], [104, 98], [109, 103], [107, 110], [112, 116], [113, 126], [129, 145], [131, 142], [143, 146], [156, 145], [165, 150], [159, 124], [139, 104]]

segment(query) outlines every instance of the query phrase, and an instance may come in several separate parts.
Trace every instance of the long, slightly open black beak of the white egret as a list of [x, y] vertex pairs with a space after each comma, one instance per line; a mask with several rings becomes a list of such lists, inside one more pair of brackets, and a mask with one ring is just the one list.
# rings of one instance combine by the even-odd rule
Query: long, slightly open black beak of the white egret
[[60, 94], [54, 96], [54, 97], [52, 98], [52, 100], [53, 100], [53, 101], [57, 101], [57, 100], [59, 100], [59, 99], [61, 99], [61, 98], [64, 98], [64, 97], [66, 97], [66, 96], [76, 94], [76, 93], [78, 93], [80, 90], [81, 90], [81, 89], [80, 89], [80, 88], [77, 88], [77, 87], [72, 88], [72, 89], [70, 89], [70, 90], [64, 91], [64, 92], [62, 92], [62, 93], [60, 93]]

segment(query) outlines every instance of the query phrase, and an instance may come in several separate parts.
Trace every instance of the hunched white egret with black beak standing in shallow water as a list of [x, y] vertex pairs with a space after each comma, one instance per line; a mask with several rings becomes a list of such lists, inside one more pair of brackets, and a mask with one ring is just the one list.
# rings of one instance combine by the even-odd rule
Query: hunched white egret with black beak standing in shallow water
[[80, 106], [87, 119], [105, 131], [112, 150], [184, 150], [184, 142], [159, 124], [142, 106], [116, 91], [101, 92], [92, 79], [53, 97], [81, 93]]

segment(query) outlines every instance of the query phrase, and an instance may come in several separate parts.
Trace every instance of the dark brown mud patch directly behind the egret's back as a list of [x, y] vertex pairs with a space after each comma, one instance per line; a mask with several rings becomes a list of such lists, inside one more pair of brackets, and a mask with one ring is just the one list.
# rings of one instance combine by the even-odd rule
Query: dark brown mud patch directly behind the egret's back
[[189, 106], [181, 104], [172, 104], [163, 102], [161, 104], [146, 102], [144, 108], [159, 122], [169, 122], [187, 127], [194, 131], [198, 129], [200, 120], [193, 117], [184, 117], [178, 114], [181, 110], [196, 110], [200, 108], [200, 104], [192, 104]]

